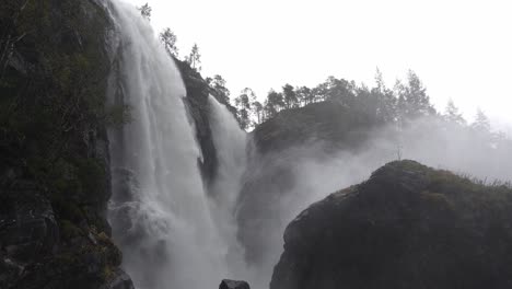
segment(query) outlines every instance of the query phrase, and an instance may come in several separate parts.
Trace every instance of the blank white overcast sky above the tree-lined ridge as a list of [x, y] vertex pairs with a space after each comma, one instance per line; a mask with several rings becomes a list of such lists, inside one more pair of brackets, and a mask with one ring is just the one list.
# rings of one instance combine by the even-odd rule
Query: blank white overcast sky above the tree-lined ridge
[[181, 57], [197, 43], [202, 76], [232, 95], [313, 86], [328, 76], [388, 86], [415, 70], [438, 108], [451, 97], [512, 124], [512, 0], [125, 0], [149, 2]]

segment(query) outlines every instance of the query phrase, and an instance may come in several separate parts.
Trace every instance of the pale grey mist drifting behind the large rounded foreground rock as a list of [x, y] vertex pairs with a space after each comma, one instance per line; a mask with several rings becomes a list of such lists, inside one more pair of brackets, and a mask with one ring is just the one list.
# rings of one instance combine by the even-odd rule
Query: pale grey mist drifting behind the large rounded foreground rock
[[[246, 177], [253, 180], [246, 181], [256, 178], [259, 187], [248, 189], [254, 196], [245, 196], [245, 201], [263, 204], [259, 205], [261, 211], [248, 215], [253, 218], [248, 230], [254, 230], [254, 220], [263, 220], [257, 227], [260, 231], [248, 233], [249, 238], [245, 239], [247, 255], [260, 255], [255, 263], [261, 277], [255, 280], [255, 288], [268, 285], [261, 280], [270, 280], [282, 252], [282, 234], [288, 223], [311, 204], [368, 180], [387, 162], [415, 160], [487, 184], [496, 180], [512, 181], [512, 142], [507, 138], [490, 139], [489, 135], [435, 117], [408, 122], [402, 129], [389, 125], [370, 131], [369, 136], [364, 143], [350, 151], [331, 152], [325, 141], [317, 140], [278, 153], [252, 157]], [[276, 181], [276, 177], [281, 180]], [[270, 200], [259, 199], [261, 197]], [[265, 220], [268, 216], [272, 218]], [[243, 227], [241, 230], [242, 236], [247, 234]]]

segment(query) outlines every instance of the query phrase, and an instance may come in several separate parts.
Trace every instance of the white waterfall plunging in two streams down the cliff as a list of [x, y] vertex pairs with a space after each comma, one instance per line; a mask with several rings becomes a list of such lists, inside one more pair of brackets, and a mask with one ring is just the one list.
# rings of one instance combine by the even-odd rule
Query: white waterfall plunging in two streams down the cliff
[[113, 1], [110, 12], [117, 35], [113, 49], [120, 54], [110, 101], [130, 105], [132, 118], [121, 131], [109, 131], [109, 219], [123, 266], [138, 289], [214, 288], [230, 277], [228, 264], [236, 268], [241, 262], [231, 256], [238, 255], [233, 222], [224, 220], [232, 219], [238, 189], [231, 171], [242, 172], [245, 165], [245, 151], [237, 147], [245, 150], [243, 132], [231, 136], [225, 129], [233, 129], [234, 119], [211, 103], [216, 122], [223, 123], [212, 126], [222, 139], [216, 139], [220, 167], [211, 200], [175, 63], [133, 7]]

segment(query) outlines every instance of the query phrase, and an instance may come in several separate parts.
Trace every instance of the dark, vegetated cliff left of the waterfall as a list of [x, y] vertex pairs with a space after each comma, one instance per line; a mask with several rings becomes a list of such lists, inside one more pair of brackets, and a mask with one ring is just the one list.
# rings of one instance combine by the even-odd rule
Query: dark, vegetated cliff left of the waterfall
[[109, 27], [98, 1], [0, 3], [0, 288], [132, 288], [105, 217]]

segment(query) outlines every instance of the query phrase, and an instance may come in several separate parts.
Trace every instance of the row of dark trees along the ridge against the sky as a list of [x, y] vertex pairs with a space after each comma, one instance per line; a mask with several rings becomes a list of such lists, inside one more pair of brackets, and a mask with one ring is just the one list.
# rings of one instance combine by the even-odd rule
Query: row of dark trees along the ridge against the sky
[[[138, 9], [143, 18], [150, 20], [152, 9], [148, 3]], [[167, 27], [159, 34], [159, 38], [167, 54], [179, 59], [176, 34]], [[201, 56], [197, 44], [194, 44], [183, 60], [198, 72], [201, 70]], [[337, 102], [346, 107], [360, 109], [370, 116], [372, 122], [381, 124], [403, 125], [408, 119], [438, 116], [451, 124], [468, 125], [453, 101], [449, 101], [444, 112], [438, 112], [431, 104], [423, 83], [412, 70], [408, 71], [406, 80], [397, 80], [393, 88], [386, 86], [379, 69], [373, 88], [335, 77], [328, 77], [313, 88], [286, 83], [279, 91], [271, 89], [263, 102], [249, 88], [243, 89], [232, 100], [226, 81], [220, 74], [209, 77], [206, 81], [210, 89], [216, 91], [216, 96], [221, 103], [234, 105], [236, 109], [234, 114], [243, 129], [254, 128], [283, 109], [299, 108], [318, 102]], [[474, 123], [468, 126], [478, 131], [491, 130], [489, 118], [481, 109], [477, 111]]]

